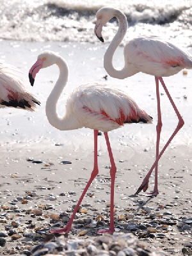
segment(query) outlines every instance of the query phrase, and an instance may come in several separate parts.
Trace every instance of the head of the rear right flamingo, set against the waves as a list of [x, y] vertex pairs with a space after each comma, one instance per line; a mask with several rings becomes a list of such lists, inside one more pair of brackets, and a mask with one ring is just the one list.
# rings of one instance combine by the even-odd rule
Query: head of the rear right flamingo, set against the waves
[[118, 10], [115, 8], [102, 7], [96, 13], [97, 20], [94, 33], [101, 42], [104, 42], [104, 39], [102, 38], [102, 27], [105, 26], [109, 20], [116, 16], [116, 11]]

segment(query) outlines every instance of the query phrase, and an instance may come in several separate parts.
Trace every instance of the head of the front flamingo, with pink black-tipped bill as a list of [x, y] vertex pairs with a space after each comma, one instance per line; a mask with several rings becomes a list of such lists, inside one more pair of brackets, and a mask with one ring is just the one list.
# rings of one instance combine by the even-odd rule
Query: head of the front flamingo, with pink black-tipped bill
[[51, 65], [54, 65], [57, 59], [58, 55], [52, 51], [43, 51], [38, 55], [37, 61], [29, 70], [29, 82], [31, 83], [31, 86], [33, 86], [35, 82], [35, 76], [39, 70], [41, 68], [47, 68]]

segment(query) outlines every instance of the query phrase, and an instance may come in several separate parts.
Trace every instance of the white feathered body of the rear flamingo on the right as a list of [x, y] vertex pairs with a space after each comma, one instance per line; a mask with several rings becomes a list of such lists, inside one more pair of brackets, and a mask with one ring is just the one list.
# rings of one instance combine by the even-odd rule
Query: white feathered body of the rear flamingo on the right
[[124, 49], [125, 60], [138, 70], [153, 76], [172, 76], [183, 68], [192, 68], [188, 52], [157, 36], [140, 36]]

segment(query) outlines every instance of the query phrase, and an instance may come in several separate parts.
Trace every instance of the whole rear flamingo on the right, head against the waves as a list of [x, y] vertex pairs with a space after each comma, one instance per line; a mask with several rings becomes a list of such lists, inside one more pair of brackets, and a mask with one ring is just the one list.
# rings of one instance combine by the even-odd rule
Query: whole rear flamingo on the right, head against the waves
[[[139, 36], [129, 40], [129, 42], [124, 47], [124, 61], [125, 65], [122, 70], [116, 70], [113, 67], [113, 55], [122, 42], [125, 33], [127, 31], [127, 19], [120, 10], [110, 7], [103, 7], [96, 13], [96, 24], [95, 24], [95, 35], [99, 38], [101, 42], [104, 42], [102, 38], [102, 27], [106, 23], [116, 17], [118, 19], [118, 31], [114, 36], [111, 44], [109, 45], [106, 53], [104, 54], [104, 68], [108, 72], [109, 76], [118, 79], [124, 79], [129, 76], [133, 76], [138, 72], [143, 72], [155, 76], [156, 80], [156, 95], [157, 95], [157, 141], [156, 141], [156, 161], [150, 168], [146, 177], [143, 179], [141, 186], [136, 191], [138, 195], [141, 190], [144, 192], [148, 189], [148, 182], [152, 171], [155, 168], [155, 184], [154, 191], [149, 193], [151, 196], [157, 196], [159, 191], [157, 187], [157, 173], [158, 173], [158, 161], [163, 155], [164, 150], [168, 147], [173, 137], [179, 132], [180, 128], [184, 125], [184, 120], [180, 115], [173, 99], [164, 84], [163, 77], [172, 76], [177, 74], [183, 68], [192, 68], [192, 56], [189, 55], [187, 51], [184, 51], [177, 47], [176, 45], [163, 40], [157, 36]], [[168, 99], [170, 100], [173, 109], [179, 119], [177, 127], [173, 134], [170, 136], [169, 140], [164, 145], [163, 149], [159, 153], [159, 141], [162, 128], [161, 120], [161, 105], [159, 96], [159, 81], [162, 84], [164, 91]]]

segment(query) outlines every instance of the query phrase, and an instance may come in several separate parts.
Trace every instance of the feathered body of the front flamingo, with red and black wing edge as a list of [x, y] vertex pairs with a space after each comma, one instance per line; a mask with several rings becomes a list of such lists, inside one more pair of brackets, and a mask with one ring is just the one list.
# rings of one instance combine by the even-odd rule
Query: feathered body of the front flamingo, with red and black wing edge
[[[83, 126], [100, 131], [111, 131], [124, 123], [151, 122], [152, 119], [124, 92], [108, 84], [79, 86], [73, 103], [74, 112]], [[72, 97], [73, 98], [73, 97]]]

